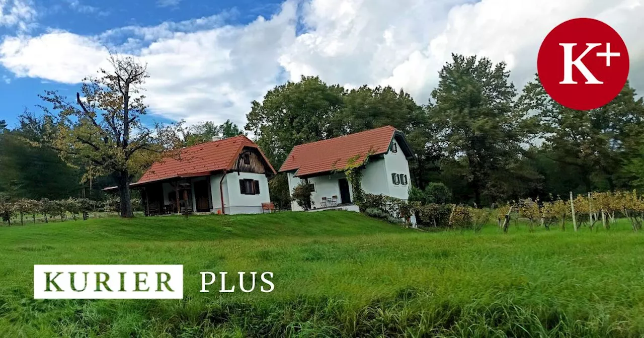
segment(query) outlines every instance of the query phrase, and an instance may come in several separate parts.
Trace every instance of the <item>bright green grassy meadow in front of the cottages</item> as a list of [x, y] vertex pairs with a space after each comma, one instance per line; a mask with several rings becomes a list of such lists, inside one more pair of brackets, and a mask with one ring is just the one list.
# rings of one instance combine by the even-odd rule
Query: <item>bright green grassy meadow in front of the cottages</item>
[[[5, 226], [0, 335], [640, 337], [643, 236], [626, 220], [503, 234], [341, 211]], [[34, 300], [34, 264], [182, 264], [184, 299]], [[200, 293], [201, 271], [270, 271], [275, 289]]]

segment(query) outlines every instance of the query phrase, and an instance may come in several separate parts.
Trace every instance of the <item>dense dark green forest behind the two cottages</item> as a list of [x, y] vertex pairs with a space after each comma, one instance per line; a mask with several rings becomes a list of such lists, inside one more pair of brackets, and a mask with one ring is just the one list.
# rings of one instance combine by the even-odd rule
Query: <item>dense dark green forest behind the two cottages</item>
[[[453, 55], [425, 102], [403, 89], [345, 89], [302, 77], [252, 102], [245, 130], [231, 121], [164, 130], [184, 146], [246, 133], [277, 169], [298, 144], [392, 125], [417, 156], [413, 184], [443, 183], [451, 202], [469, 205], [644, 187], [644, 102], [628, 83], [607, 106], [576, 111], [554, 102], [538, 77], [517, 90], [509, 75], [503, 63]], [[100, 199], [102, 187], [115, 183], [82, 156], [61, 158], [38, 142], [55, 118], [46, 110], [23, 113], [16, 126], [0, 121], [0, 194]], [[149, 165], [143, 162], [132, 180]], [[273, 178], [270, 188], [274, 202], [286, 205], [285, 177]]]

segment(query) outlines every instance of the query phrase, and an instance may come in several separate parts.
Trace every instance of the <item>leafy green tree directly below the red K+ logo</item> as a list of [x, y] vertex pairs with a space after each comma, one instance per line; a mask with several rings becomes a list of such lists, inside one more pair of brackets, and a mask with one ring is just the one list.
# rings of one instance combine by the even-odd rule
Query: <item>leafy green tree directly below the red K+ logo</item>
[[[574, 169], [587, 192], [620, 187], [621, 159], [641, 156], [637, 140], [642, 135], [644, 101], [636, 99], [628, 82], [606, 106], [580, 111], [555, 102], [537, 78], [526, 85], [519, 105], [523, 111], [536, 111], [544, 135], [544, 155]], [[628, 180], [623, 181], [629, 185]]]

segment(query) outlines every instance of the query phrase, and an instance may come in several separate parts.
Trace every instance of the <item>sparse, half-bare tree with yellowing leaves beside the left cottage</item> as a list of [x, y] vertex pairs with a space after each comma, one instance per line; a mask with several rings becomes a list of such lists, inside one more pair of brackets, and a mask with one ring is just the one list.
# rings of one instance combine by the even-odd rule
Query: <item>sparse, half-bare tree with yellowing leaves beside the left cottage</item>
[[155, 160], [173, 153], [180, 145], [177, 126], [156, 125], [150, 129], [140, 118], [147, 106], [141, 95], [147, 79], [146, 66], [131, 57], [112, 56], [111, 70], [88, 78], [75, 104], [56, 91], [41, 98], [53, 106], [50, 129], [44, 143], [58, 151], [69, 164], [87, 163], [90, 176], [111, 176], [120, 196], [120, 216], [133, 217], [129, 183]]

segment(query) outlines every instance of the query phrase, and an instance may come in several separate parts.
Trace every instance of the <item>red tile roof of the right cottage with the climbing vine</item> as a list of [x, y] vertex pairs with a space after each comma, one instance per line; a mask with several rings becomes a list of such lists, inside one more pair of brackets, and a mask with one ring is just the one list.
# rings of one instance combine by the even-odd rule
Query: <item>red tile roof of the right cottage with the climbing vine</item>
[[356, 157], [357, 161], [362, 161], [369, 153], [386, 153], [395, 131], [392, 126], [384, 126], [295, 146], [279, 171], [297, 169], [295, 176], [306, 176], [343, 169], [349, 158]]

